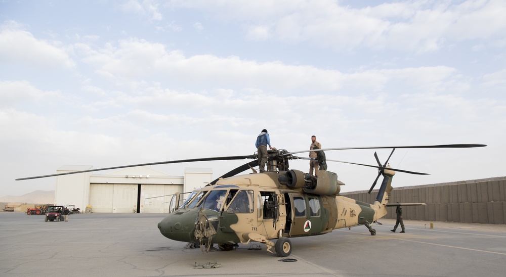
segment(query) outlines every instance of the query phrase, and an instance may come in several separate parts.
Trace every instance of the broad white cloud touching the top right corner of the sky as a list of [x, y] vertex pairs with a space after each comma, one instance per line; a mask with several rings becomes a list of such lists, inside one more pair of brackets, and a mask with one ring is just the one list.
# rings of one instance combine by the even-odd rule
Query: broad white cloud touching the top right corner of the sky
[[[351, 51], [357, 47], [434, 52], [453, 42], [496, 43], [506, 33], [506, 3], [469, 0], [385, 3], [365, 8], [335, 1], [173, 1], [240, 22], [248, 40], [305, 42]], [[498, 35], [502, 34], [502, 35]]]

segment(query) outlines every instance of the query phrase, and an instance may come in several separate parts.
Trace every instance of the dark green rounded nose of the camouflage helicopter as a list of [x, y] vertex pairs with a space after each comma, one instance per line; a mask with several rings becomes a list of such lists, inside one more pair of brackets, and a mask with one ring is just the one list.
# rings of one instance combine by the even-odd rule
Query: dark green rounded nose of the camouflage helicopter
[[198, 213], [192, 210], [175, 211], [158, 223], [160, 233], [168, 239], [192, 242]]

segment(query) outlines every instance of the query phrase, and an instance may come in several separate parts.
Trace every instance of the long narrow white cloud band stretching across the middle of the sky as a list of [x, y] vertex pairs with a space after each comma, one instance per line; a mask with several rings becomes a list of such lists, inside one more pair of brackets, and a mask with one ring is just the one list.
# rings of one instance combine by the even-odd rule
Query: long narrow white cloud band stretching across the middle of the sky
[[372, 92], [394, 84], [405, 87], [415, 85], [418, 91], [426, 93], [462, 91], [468, 87], [466, 80], [459, 79], [454, 68], [445, 66], [343, 73], [276, 61], [258, 63], [234, 56], [186, 57], [180, 51], [168, 52], [162, 44], [139, 39], [123, 40], [117, 46], [108, 44], [99, 50], [88, 50], [86, 54], [88, 57], [84, 60], [94, 66], [98, 73], [122, 83], [138, 84], [139, 80], [145, 80], [149, 84], [149, 79], [158, 78], [165, 79], [163, 83], [180, 83], [187, 88], [200, 87], [199, 84], [205, 83], [207, 88], [250, 87], [260, 88], [265, 93], [277, 91], [280, 94], [301, 94], [311, 90], [326, 94], [344, 88]]

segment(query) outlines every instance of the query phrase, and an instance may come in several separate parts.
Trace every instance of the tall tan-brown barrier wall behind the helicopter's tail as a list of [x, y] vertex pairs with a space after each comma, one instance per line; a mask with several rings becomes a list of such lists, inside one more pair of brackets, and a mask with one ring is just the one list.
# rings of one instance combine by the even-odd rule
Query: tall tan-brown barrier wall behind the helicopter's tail
[[[394, 188], [390, 203], [426, 203], [425, 206], [402, 207], [408, 220], [454, 221], [465, 223], [506, 223], [506, 177], [469, 180], [425, 186]], [[342, 195], [373, 203], [377, 190]], [[395, 207], [385, 218], [395, 219]]]

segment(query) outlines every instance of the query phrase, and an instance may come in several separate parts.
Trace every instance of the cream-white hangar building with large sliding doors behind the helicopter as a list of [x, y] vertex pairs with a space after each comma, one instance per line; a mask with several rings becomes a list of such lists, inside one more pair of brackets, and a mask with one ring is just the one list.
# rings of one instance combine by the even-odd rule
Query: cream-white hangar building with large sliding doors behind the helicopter
[[[90, 165], [64, 165], [57, 173], [93, 169]], [[210, 168], [185, 168], [184, 176], [172, 176], [148, 167], [130, 167], [108, 174], [60, 175], [56, 179], [55, 203], [87, 206], [104, 213], [166, 213], [171, 197], [191, 192], [212, 181]], [[182, 197], [184, 199], [184, 196]]]

